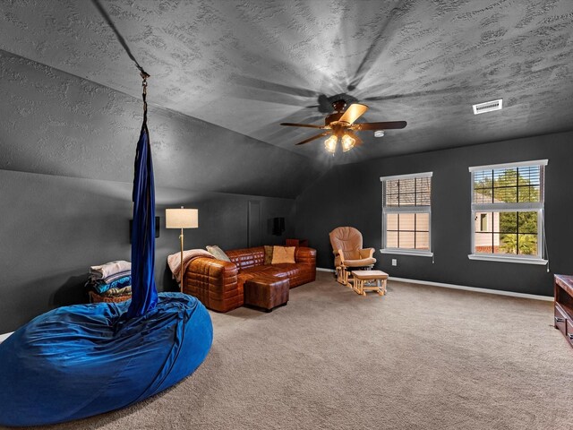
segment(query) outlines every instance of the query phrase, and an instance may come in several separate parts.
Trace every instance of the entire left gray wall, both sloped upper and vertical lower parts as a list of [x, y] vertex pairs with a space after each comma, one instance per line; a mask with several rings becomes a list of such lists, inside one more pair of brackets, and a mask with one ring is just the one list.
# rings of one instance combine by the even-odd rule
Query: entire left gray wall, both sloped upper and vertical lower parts
[[[133, 73], [137, 79], [137, 73]], [[247, 244], [247, 207], [261, 202], [262, 239], [294, 232], [294, 198], [321, 174], [312, 161], [153, 104], [150, 141], [158, 216], [158, 288], [175, 284], [178, 231], [165, 208], [199, 209], [185, 248]], [[133, 159], [142, 104], [121, 92], [0, 50], [0, 333], [57, 305], [85, 301], [92, 264], [130, 260]], [[286, 179], [287, 178], [287, 179]], [[269, 219], [286, 218], [283, 236]], [[260, 244], [262, 245], [262, 244]]]

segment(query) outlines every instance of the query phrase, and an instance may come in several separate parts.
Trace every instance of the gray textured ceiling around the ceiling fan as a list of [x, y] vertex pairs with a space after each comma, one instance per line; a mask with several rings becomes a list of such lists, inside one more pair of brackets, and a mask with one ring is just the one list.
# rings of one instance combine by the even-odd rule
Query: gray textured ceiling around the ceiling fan
[[[150, 103], [315, 160], [325, 97], [404, 130], [329, 162], [573, 129], [570, 0], [101, 0], [148, 73]], [[0, 5], [0, 49], [140, 97], [139, 74], [90, 0]], [[474, 116], [471, 105], [503, 99]], [[321, 103], [320, 103], [321, 102]]]

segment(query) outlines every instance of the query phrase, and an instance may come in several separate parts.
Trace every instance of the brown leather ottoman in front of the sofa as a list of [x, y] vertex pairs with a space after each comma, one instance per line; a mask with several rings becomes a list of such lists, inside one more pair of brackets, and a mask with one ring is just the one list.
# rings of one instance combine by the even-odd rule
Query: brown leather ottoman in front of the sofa
[[270, 312], [274, 307], [286, 305], [290, 281], [274, 276], [257, 276], [244, 283], [244, 304], [261, 307]]

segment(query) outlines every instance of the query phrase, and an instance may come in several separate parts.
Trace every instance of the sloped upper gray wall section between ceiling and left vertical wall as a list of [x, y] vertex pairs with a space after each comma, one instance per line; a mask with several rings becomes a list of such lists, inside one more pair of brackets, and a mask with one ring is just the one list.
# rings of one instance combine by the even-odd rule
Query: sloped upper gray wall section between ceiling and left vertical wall
[[[154, 105], [155, 79], [156, 185], [295, 198], [321, 174], [311, 159]], [[0, 100], [0, 168], [133, 181], [141, 99], [0, 50]]]

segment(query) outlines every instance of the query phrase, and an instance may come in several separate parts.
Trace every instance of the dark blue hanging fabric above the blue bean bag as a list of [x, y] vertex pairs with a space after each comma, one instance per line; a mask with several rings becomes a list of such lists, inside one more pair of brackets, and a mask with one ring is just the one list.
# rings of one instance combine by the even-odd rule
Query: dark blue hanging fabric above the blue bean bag
[[[147, 112], [147, 109], [146, 109]], [[135, 153], [132, 227], [132, 304], [125, 318], [141, 316], [158, 301], [155, 288], [155, 185], [147, 113]]]

